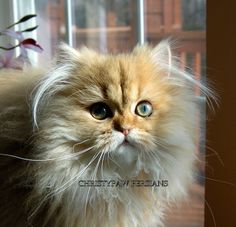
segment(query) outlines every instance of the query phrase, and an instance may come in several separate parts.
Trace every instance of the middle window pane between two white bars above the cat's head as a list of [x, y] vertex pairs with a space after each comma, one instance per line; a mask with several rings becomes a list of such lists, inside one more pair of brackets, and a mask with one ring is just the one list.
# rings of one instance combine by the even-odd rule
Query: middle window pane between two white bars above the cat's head
[[76, 46], [86, 45], [103, 52], [132, 49], [135, 45], [132, 2], [75, 0]]

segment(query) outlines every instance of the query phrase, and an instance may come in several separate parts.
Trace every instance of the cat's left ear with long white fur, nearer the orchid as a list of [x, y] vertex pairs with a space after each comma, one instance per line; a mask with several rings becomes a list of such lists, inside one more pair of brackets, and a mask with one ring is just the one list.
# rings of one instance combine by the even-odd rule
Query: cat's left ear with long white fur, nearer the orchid
[[56, 64], [76, 62], [80, 58], [80, 52], [66, 43], [59, 45], [56, 57]]

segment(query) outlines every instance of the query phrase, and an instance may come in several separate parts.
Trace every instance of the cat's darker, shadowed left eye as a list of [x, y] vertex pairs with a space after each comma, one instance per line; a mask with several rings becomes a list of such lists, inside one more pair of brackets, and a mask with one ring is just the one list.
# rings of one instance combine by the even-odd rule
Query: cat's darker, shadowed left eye
[[90, 107], [90, 114], [97, 120], [112, 117], [112, 111], [106, 103], [97, 102]]

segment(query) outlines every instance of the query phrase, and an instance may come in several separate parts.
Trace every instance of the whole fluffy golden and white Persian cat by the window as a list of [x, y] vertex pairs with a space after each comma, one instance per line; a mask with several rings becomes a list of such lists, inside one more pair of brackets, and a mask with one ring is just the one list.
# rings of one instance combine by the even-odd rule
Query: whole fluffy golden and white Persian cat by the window
[[195, 88], [211, 95], [178, 64], [168, 41], [64, 44], [51, 70], [1, 70], [1, 227], [162, 226], [194, 180]]

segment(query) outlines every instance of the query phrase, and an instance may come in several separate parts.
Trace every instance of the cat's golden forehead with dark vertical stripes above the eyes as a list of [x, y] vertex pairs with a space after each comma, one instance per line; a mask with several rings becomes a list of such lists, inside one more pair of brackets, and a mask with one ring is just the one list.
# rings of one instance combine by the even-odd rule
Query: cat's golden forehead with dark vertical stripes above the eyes
[[78, 89], [91, 102], [109, 101], [122, 108], [145, 99], [155, 86], [154, 77], [154, 66], [145, 57], [107, 56], [79, 72]]

